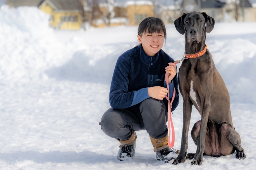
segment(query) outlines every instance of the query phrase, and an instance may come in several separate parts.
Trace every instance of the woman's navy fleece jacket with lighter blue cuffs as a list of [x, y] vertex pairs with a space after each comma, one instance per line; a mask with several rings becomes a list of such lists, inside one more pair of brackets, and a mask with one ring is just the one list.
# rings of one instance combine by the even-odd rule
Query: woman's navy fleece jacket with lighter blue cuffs
[[[131, 109], [139, 111], [142, 100], [147, 99], [147, 88], [153, 86], [166, 87], [164, 81], [165, 67], [174, 60], [160, 50], [154, 57], [149, 57], [142, 45], [123, 53], [116, 62], [110, 86], [109, 103], [113, 109]], [[176, 90], [172, 111], [179, 103], [178, 77], [173, 78], [170, 87], [170, 98], [173, 86]], [[139, 102], [139, 103], [138, 103]], [[166, 106], [168, 101], [164, 100]]]

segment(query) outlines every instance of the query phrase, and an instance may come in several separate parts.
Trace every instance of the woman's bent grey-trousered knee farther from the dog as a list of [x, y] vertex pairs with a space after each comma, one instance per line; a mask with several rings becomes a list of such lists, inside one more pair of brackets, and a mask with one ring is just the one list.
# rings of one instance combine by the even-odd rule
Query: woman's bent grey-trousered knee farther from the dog
[[121, 141], [126, 140], [123, 138], [129, 138], [129, 133], [131, 133], [130, 127], [125, 126], [122, 117], [110, 109], [103, 114], [99, 125], [106, 135]]

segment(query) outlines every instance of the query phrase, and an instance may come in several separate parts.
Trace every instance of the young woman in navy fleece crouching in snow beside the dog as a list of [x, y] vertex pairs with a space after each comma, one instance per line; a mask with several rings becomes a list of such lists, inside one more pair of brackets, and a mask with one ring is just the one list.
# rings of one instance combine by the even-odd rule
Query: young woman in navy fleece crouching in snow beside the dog
[[[121, 143], [118, 160], [133, 158], [135, 131], [147, 130], [157, 159], [168, 162], [173, 156], [167, 155], [174, 151], [168, 147], [166, 81], [170, 97], [173, 86], [176, 90], [172, 111], [178, 105], [179, 95], [174, 60], [161, 50], [166, 41], [163, 21], [155, 17], [144, 19], [138, 28], [138, 41], [139, 45], [123, 53], [116, 62], [109, 94], [111, 108], [99, 124], [106, 135]], [[165, 74], [169, 74], [168, 80], [164, 80]]]

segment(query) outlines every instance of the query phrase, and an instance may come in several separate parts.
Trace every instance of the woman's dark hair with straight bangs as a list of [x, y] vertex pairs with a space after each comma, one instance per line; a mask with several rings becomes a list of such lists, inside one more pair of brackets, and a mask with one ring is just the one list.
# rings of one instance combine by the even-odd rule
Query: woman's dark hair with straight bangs
[[164, 40], [166, 42], [166, 29], [164, 22], [160, 18], [148, 17], [143, 19], [138, 28], [138, 35], [142, 36], [143, 33], [164, 33]]

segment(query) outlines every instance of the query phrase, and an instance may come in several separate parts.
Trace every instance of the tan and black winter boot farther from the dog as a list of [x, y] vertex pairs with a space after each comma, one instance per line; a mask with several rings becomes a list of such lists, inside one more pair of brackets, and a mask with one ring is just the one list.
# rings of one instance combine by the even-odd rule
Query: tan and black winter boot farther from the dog
[[117, 159], [119, 161], [124, 161], [124, 160], [128, 160], [130, 158], [133, 158], [134, 154], [135, 154], [135, 148], [136, 148], [136, 133], [135, 131], [131, 130], [132, 135], [129, 139], [125, 140], [125, 141], [119, 141], [118, 142], [121, 143], [121, 145], [119, 146], [120, 149], [118, 151], [117, 154]]

